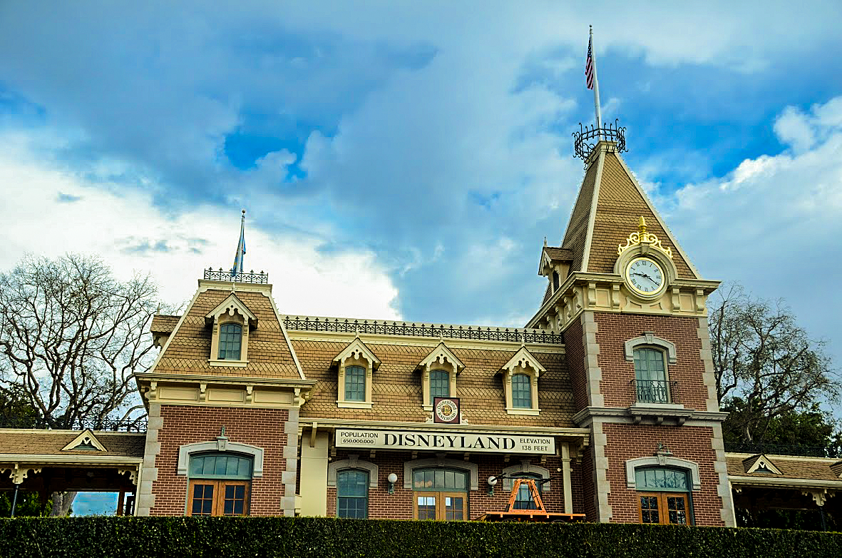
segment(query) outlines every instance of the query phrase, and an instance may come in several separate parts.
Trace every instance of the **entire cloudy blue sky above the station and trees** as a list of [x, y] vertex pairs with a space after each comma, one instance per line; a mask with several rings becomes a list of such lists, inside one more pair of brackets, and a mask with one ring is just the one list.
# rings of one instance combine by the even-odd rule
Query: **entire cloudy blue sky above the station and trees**
[[[842, 362], [839, 2], [0, 4], [0, 254], [95, 252], [171, 303], [523, 325], [605, 121], [703, 275]], [[831, 310], [836, 309], [836, 310]]]

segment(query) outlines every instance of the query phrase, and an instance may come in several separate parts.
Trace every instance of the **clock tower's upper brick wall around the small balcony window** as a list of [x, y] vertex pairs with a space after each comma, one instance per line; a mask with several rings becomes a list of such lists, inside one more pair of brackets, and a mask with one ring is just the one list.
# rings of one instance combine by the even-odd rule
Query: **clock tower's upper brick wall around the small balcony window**
[[[634, 362], [626, 360], [624, 344], [644, 331], [653, 331], [675, 344], [677, 362], [667, 365], [669, 380], [678, 382], [672, 394], [674, 402], [688, 409], [706, 410], [707, 388], [702, 379], [705, 368], [699, 352], [698, 318], [597, 313], [594, 320], [599, 325], [596, 340], [600, 345], [602, 370], [600, 391], [606, 407], [628, 407], [635, 403], [637, 397], [630, 384], [635, 377]], [[569, 340], [568, 354], [572, 352], [573, 341]]]

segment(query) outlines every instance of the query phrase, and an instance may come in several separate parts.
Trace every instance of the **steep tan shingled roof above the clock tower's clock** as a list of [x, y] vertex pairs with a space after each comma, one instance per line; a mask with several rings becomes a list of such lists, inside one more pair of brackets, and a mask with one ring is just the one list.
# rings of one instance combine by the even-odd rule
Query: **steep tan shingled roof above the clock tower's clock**
[[570, 271], [613, 273], [617, 246], [637, 230], [640, 217], [644, 217], [649, 232], [673, 249], [679, 278], [701, 278], [612, 146], [600, 142], [594, 148], [600, 153], [590, 159], [579, 188], [562, 242], [562, 248], [573, 251]]

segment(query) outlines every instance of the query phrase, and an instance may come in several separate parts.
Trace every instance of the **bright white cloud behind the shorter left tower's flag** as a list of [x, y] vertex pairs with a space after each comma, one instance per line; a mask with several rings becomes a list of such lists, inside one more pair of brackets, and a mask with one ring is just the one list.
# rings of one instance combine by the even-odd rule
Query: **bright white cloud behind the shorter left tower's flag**
[[[101, 256], [118, 276], [152, 274], [163, 300], [181, 303], [207, 266], [231, 265], [239, 233], [239, 208], [198, 205], [173, 216], [152, 204], [149, 192], [121, 194], [49, 168], [22, 137], [3, 135], [0, 155], [0, 269], [24, 253], [55, 257], [65, 252]], [[278, 158], [283, 164], [285, 159]], [[319, 251], [306, 234], [270, 234], [253, 223], [271, 207], [247, 217], [246, 269], [268, 271], [278, 308], [289, 314], [399, 319], [397, 288], [370, 251]], [[255, 218], [256, 217], [256, 218]]]

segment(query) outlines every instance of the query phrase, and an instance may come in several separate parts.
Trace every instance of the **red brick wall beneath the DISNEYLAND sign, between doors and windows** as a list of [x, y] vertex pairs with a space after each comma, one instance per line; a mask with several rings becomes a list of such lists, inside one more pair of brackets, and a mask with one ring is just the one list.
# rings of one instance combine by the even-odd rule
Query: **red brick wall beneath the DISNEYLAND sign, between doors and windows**
[[[419, 459], [431, 457], [430, 455], [419, 456]], [[347, 459], [348, 453], [338, 452], [336, 460]], [[368, 459], [365, 454], [360, 454], [360, 460], [370, 461], [378, 467], [377, 488], [369, 489], [369, 518], [371, 519], [411, 519], [413, 518], [413, 491], [403, 488], [403, 464], [412, 459], [411, 453], [402, 452], [378, 452], [374, 459]], [[448, 459], [460, 459], [458, 454], [448, 456]], [[485, 512], [504, 511], [509, 503], [509, 491], [503, 488], [503, 481], [498, 481], [494, 487], [494, 496], [488, 496], [488, 477], [500, 475], [503, 469], [514, 464], [520, 464], [520, 459], [510, 459], [509, 463], [504, 461], [500, 455], [472, 456], [472, 463], [477, 464], [477, 478], [479, 489], [468, 491], [468, 511], [470, 517], [478, 518]], [[552, 456], [541, 464], [541, 459], [530, 459], [530, 463], [549, 469], [550, 491], [541, 496], [544, 506], [548, 512], [564, 512], [564, 480], [561, 469], [561, 459]], [[581, 477], [581, 464], [578, 461], [571, 463], [571, 479], [573, 484], [573, 512], [584, 513], [581, 497], [577, 497], [577, 487]], [[397, 475], [395, 493], [389, 494], [389, 481], [386, 477], [394, 473]], [[470, 480], [469, 480], [470, 482]], [[302, 495], [305, 496], [305, 495]], [[306, 496], [305, 496], [306, 497]], [[328, 488], [328, 516], [336, 515], [336, 488]]]

